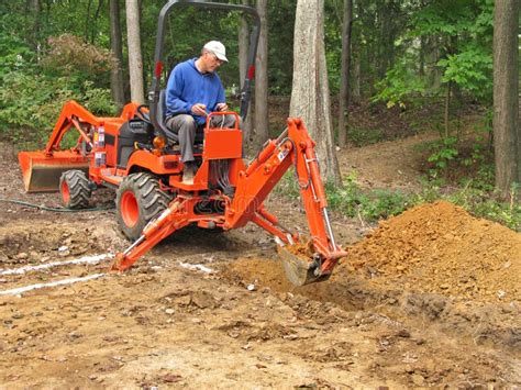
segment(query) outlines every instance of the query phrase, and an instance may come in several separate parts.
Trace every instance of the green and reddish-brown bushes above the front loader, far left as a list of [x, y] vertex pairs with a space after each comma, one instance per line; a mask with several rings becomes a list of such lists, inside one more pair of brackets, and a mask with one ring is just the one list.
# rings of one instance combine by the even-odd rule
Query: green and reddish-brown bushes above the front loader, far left
[[115, 113], [107, 88], [109, 68], [101, 60], [107, 52], [62, 36], [52, 41], [49, 51], [36, 63], [29, 46], [12, 45], [15, 38], [5, 42], [10, 53], [1, 58], [0, 136], [14, 142], [29, 140], [41, 147], [63, 104], [71, 99], [95, 114]]

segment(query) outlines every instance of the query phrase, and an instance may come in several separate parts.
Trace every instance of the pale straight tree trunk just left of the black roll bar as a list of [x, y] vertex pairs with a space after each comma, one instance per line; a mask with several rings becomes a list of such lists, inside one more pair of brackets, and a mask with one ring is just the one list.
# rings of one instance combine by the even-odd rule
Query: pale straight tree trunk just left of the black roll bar
[[143, 57], [141, 55], [140, 12], [137, 0], [125, 0], [125, 3], [131, 100], [135, 103], [143, 104], [145, 102], [145, 96], [143, 92]]

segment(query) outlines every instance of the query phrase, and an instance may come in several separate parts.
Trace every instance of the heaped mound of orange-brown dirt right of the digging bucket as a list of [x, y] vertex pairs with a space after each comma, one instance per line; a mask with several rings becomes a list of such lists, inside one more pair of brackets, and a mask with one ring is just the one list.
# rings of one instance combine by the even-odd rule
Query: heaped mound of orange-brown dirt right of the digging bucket
[[439, 201], [384, 221], [337, 272], [390, 288], [483, 301], [521, 298], [521, 234]]

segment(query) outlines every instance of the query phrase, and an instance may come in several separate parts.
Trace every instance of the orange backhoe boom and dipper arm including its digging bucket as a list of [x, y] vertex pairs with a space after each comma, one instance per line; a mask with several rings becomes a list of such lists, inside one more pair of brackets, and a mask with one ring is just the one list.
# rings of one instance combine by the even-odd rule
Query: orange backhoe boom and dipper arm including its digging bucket
[[[297, 259], [291, 248], [298, 236], [281, 226], [275, 215], [268, 213], [263, 202], [291, 167], [296, 176], [311, 233], [312, 259]], [[336, 261], [346, 252], [336, 245], [328, 216], [328, 201], [314, 153], [314, 142], [300, 119], [289, 119], [287, 130], [275, 141], [269, 141], [245, 171], [240, 174], [235, 196], [226, 210], [224, 229], [244, 226], [252, 221], [289, 245], [282, 259], [292, 261], [285, 266], [288, 278], [296, 285], [326, 279]], [[302, 243], [303, 244], [303, 243]], [[289, 269], [288, 268], [298, 268]], [[293, 274], [293, 275], [291, 275]]]

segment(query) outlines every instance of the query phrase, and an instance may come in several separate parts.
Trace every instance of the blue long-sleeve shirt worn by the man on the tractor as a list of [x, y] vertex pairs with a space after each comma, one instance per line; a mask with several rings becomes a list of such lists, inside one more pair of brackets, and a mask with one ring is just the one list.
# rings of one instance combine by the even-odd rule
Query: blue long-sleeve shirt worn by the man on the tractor
[[218, 103], [224, 103], [224, 88], [217, 73], [201, 74], [196, 68], [196, 59], [176, 65], [166, 87], [166, 116], [190, 114], [198, 124], [204, 124], [206, 118], [193, 115], [191, 107], [197, 103], [215, 111]]

